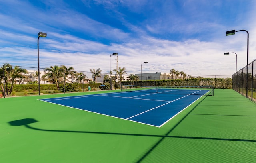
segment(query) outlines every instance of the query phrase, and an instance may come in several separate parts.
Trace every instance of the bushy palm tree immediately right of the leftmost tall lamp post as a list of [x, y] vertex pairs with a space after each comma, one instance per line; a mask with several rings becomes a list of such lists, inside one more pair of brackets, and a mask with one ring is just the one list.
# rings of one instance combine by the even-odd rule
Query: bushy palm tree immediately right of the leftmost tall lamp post
[[42, 75], [42, 78], [47, 77], [49, 80], [52, 80], [52, 82], [56, 84], [57, 89], [59, 90], [59, 79], [60, 77], [63, 77], [60, 67], [57, 65], [50, 66], [45, 68], [44, 71], [47, 72], [46, 74]]

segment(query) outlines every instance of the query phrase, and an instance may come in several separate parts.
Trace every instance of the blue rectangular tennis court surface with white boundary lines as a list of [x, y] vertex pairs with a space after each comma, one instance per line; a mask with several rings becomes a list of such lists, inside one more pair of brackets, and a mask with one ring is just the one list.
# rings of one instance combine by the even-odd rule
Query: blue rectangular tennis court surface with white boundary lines
[[[161, 127], [209, 90], [194, 90], [194, 93], [189, 91], [188, 94], [114, 92], [40, 100]], [[200, 94], [195, 94], [198, 92]]]

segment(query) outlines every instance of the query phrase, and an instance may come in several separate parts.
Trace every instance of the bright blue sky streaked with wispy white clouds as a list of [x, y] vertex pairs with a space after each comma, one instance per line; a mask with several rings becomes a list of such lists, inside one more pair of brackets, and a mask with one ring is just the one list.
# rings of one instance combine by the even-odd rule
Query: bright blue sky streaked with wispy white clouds
[[[256, 59], [255, 0], [0, 0], [0, 64], [232, 75]], [[111, 70], [116, 56], [111, 57]]]

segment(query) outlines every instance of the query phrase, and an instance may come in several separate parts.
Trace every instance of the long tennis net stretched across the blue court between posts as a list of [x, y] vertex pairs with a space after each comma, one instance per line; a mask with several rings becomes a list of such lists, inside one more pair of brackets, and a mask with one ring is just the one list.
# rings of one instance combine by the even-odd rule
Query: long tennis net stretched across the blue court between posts
[[213, 86], [132, 86], [122, 85], [121, 91], [160, 94], [214, 95]]

